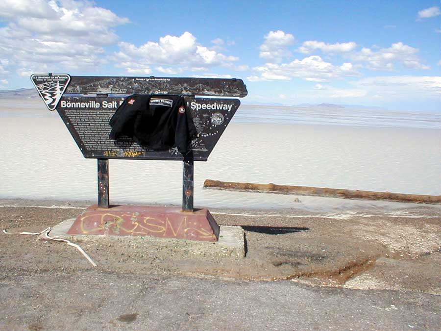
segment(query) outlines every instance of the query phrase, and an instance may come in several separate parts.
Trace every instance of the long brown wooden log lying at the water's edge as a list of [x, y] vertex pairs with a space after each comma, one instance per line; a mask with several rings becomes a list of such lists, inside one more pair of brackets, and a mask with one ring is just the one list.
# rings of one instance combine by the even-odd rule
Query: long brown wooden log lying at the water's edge
[[316, 197], [332, 197], [358, 200], [387, 200], [417, 204], [441, 204], [441, 195], [403, 194], [362, 190], [345, 190], [328, 187], [255, 184], [206, 179], [203, 188], [259, 193], [277, 193]]

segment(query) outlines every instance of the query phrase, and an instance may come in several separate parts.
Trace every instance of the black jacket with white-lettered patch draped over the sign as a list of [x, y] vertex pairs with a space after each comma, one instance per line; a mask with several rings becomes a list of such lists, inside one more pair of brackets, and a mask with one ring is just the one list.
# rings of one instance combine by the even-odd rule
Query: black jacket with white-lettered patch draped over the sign
[[155, 151], [177, 147], [188, 153], [197, 136], [184, 97], [176, 95], [131, 95], [118, 107], [110, 126], [111, 139], [128, 136]]

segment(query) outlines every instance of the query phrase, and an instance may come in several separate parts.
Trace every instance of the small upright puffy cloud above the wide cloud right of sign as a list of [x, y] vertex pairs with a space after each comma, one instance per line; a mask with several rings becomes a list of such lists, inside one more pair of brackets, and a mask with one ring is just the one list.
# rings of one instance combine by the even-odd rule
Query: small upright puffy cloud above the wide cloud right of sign
[[288, 47], [295, 42], [291, 33], [283, 31], [270, 31], [265, 37], [264, 43], [260, 46], [259, 56], [271, 62], [281, 62], [284, 57], [291, 56]]

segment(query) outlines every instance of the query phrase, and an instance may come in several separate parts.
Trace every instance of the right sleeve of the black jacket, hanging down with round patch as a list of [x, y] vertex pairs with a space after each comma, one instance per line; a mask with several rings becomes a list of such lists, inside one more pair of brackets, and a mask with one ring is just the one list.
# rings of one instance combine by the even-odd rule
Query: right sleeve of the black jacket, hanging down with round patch
[[192, 115], [188, 110], [184, 97], [179, 99], [179, 108], [175, 132], [175, 145], [179, 153], [186, 154], [191, 150], [191, 142], [197, 136]]

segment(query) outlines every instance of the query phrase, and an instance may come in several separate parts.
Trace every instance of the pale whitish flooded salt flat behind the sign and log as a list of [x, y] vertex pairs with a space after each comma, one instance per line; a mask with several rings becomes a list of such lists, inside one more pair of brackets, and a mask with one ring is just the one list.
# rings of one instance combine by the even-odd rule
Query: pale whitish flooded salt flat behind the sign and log
[[[97, 162], [83, 158], [58, 115], [17, 114], [0, 116], [0, 198], [95, 200]], [[202, 190], [206, 178], [439, 195], [441, 133], [233, 119], [208, 161], [195, 162], [195, 206], [299, 207], [294, 196]], [[110, 160], [111, 202], [180, 204], [181, 185], [182, 162]]]

